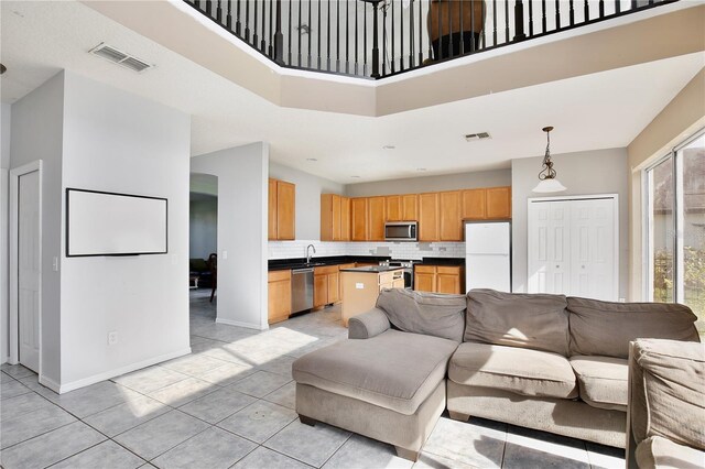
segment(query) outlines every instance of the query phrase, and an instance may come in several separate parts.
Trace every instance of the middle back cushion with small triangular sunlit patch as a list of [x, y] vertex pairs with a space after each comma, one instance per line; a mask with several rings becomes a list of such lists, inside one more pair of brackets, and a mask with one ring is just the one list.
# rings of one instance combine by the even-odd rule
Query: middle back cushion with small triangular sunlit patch
[[465, 341], [568, 353], [564, 295], [471, 290], [467, 294]]

